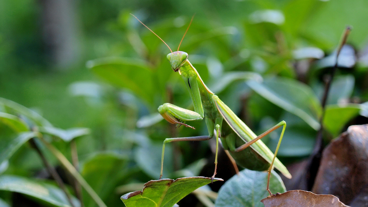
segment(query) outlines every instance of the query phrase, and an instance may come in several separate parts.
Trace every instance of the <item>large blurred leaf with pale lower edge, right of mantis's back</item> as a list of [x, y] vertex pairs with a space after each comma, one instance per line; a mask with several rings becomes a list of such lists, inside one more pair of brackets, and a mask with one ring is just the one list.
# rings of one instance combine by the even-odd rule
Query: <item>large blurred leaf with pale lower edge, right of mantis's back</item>
[[247, 84], [263, 98], [319, 129], [321, 105], [308, 85], [288, 78], [269, 78], [263, 83], [251, 80]]

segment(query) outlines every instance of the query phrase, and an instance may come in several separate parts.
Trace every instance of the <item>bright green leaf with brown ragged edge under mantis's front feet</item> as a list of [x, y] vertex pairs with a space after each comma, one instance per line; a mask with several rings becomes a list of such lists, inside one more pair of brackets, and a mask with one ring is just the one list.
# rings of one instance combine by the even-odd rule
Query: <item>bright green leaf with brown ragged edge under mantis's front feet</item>
[[[221, 180], [215, 178], [213, 182]], [[127, 193], [121, 196], [127, 207], [172, 207], [189, 193], [211, 183], [210, 178], [187, 177], [151, 180], [145, 183], [143, 190]]]

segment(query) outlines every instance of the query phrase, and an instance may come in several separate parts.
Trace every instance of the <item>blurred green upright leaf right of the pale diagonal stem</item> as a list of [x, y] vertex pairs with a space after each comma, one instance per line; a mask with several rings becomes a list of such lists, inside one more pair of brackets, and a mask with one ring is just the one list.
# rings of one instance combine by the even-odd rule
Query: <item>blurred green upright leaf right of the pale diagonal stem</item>
[[[127, 172], [127, 161], [126, 157], [114, 152], [98, 153], [84, 162], [81, 175], [101, 199], [109, 202], [109, 199], [114, 199], [114, 189], [121, 184], [121, 178]], [[85, 200], [85, 204], [95, 205], [91, 199]]]

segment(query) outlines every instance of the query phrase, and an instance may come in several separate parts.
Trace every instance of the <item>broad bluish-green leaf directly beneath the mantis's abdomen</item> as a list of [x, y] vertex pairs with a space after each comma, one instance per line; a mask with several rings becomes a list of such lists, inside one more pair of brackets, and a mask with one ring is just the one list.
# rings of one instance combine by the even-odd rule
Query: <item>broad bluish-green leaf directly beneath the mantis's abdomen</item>
[[[263, 207], [261, 200], [270, 195], [266, 190], [267, 176], [266, 171], [240, 171], [240, 175], [234, 175], [220, 188], [215, 207]], [[272, 193], [286, 191], [274, 171], [270, 177], [270, 190]]]

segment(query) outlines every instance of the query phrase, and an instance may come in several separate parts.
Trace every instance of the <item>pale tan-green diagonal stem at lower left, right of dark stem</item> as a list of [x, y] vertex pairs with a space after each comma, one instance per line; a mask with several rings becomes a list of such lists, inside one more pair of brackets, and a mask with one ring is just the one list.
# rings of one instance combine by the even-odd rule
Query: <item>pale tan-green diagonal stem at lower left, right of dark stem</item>
[[52, 144], [45, 141], [42, 137], [40, 140], [46, 147], [52, 152], [52, 154], [59, 160], [59, 162], [67, 169], [67, 171], [81, 184], [82, 187], [86, 190], [86, 192], [92, 197], [92, 199], [96, 202], [99, 207], [107, 207], [105, 203], [101, 200], [98, 194], [92, 189], [91, 186], [86, 182], [86, 180], [79, 174], [77, 169], [68, 161], [68, 159], [57, 150]]

